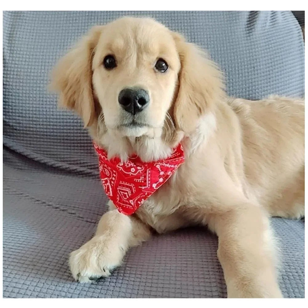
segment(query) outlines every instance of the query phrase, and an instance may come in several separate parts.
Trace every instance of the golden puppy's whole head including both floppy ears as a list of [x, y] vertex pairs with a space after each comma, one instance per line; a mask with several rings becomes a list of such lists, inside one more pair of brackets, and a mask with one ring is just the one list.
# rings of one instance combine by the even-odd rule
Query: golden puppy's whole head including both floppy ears
[[102, 126], [109, 136], [163, 138], [170, 147], [223, 93], [219, 71], [197, 47], [152, 19], [127, 17], [92, 28], [59, 61], [51, 86], [92, 135]]

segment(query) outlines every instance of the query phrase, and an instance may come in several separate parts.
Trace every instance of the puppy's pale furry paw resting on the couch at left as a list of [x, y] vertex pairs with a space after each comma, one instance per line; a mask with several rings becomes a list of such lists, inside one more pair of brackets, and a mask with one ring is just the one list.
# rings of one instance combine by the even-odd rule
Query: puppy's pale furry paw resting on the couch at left
[[95, 236], [70, 254], [69, 266], [74, 279], [91, 283], [108, 277], [121, 264], [124, 248], [106, 236]]

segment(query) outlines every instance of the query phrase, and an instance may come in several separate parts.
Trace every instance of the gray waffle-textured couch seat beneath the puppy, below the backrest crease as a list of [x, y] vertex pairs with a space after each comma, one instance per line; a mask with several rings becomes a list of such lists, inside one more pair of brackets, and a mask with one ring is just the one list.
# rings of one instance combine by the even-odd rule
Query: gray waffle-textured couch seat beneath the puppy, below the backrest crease
[[[205, 229], [154, 236], [131, 249], [111, 277], [72, 282], [68, 254], [89, 240], [106, 210], [99, 179], [76, 177], [4, 151], [3, 296], [226, 296], [217, 238]], [[304, 297], [304, 222], [273, 218], [285, 297]]]

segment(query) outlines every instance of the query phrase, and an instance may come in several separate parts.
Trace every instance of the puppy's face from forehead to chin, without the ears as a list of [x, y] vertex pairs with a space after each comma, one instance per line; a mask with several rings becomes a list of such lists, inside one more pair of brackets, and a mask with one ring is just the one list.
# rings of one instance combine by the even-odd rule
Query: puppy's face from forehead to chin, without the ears
[[152, 20], [124, 18], [102, 29], [92, 83], [108, 130], [138, 137], [163, 128], [180, 59], [171, 33]]

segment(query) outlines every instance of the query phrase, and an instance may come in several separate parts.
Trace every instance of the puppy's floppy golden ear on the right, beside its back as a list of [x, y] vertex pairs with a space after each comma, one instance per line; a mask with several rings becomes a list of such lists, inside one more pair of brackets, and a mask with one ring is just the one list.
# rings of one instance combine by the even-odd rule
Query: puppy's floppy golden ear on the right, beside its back
[[189, 133], [196, 128], [198, 118], [224, 95], [222, 73], [205, 51], [185, 42], [178, 33], [172, 32], [172, 35], [181, 62], [173, 117], [176, 128]]

